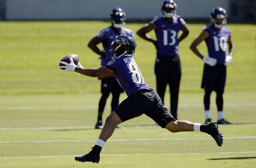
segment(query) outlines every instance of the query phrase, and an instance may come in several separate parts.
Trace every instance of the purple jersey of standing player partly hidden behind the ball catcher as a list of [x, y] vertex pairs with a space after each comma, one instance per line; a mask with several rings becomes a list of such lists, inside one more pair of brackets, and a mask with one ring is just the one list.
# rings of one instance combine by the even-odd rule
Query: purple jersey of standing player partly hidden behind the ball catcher
[[[134, 38], [133, 31], [124, 27], [121, 27], [120, 35], [129, 35]], [[105, 29], [101, 29], [96, 36], [102, 40], [102, 45], [105, 50], [105, 58], [101, 59], [101, 65], [106, 65], [109, 61], [111, 61], [111, 57], [109, 55], [109, 50], [112, 49], [111, 43], [119, 35], [114, 32], [111, 26], [109, 26]]]

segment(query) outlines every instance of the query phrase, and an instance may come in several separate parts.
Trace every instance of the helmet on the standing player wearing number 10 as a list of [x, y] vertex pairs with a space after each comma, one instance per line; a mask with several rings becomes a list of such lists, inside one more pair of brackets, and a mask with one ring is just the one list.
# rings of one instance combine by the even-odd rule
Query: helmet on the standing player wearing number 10
[[[222, 21], [216, 23], [215, 19], [222, 19]], [[220, 29], [227, 23], [226, 10], [223, 7], [214, 7], [211, 10], [210, 22], [214, 27]]]

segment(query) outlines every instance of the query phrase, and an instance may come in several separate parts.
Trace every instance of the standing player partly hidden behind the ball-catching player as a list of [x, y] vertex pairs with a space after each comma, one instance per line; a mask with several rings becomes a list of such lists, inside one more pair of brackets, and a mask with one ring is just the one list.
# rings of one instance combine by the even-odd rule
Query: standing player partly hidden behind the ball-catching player
[[[109, 14], [109, 21], [111, 26], [101, 29], [94, 38], [89, 42], [88, 46], [96, 54], [100, 55], [101, 65], [106, 65], [111, 61], [109, 50], [111, 49], [111, 43], [119, 35], [130, 35], [134, 38], [133, 32], [130, 29], [123, 27], [125, 25], [126, 14], [120, 7], [116, 7], [111, 10]], [[104, 50], [100, 51], [97, 47], [98, 44], [102, 43]], [[107, 52], [105, 52], [107, 51]], [[106, 101], [110, 93], [112, 93], [111, 111], [113, 111], [119, 104], [120, 93], [123, 89], [120, 87], [115, 77], [99, 78], [101, 79], [101, 98], [98, 107], [98, 120], [95, 125], [96, 129], [102, 129], [102, 114], [106, 105]], [[123, 128], [117, 125], [117, 128]]]

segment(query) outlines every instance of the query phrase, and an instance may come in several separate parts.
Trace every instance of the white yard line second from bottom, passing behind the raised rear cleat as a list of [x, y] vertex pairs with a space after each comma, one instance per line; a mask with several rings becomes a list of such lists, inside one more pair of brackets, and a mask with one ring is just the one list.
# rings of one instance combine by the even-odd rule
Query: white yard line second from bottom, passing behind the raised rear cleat
[[[211, 140], [212, 138], [146, 138], [146, 139], [121, 139], [108, 140], [108, 142], [131, 142], [131, 141], [167, 141], [167, 140]], [[238, 139], [256, 139], [256, 137], [224, 137], [224, 140], [238, 140]], [[51, 140], [51, 141], [0, 141], [4, 143], [86, 143], [96, 142], [96, 140]]]

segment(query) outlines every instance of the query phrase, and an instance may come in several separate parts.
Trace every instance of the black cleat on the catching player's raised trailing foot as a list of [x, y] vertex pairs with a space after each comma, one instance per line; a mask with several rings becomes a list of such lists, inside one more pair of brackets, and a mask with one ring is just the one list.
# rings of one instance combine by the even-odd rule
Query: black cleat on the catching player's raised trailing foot
[[222, 146], [223, 144], [223, 136], [221, 135], [219, 129], [218, 129], [218, 125], [216, 122], [210, 122], [209, 124], [207, 124], [207, 128], [208, 128], [208, 134], [210, 134], [214, 140], [216, 141], [218, 146]]

